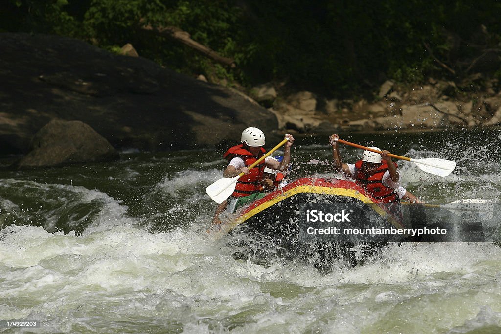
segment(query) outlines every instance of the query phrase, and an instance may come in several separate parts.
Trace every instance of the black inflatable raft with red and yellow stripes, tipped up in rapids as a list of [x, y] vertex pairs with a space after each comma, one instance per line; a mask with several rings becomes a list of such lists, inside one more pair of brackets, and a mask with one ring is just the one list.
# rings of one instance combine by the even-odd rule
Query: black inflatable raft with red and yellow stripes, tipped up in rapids
[[326, 267], [340, 254], [353, 257], [356, 245], [370, 251], [409, 238], [403, 231], [412, 222], [400, 210], [399, 204], [379, 203], [353, 181], [301, 178], [238, 208], [222, 232], [239, 247], [266, 243], [268, 253], [285, 250], [285, 256], [313, 257], [316, 266]]

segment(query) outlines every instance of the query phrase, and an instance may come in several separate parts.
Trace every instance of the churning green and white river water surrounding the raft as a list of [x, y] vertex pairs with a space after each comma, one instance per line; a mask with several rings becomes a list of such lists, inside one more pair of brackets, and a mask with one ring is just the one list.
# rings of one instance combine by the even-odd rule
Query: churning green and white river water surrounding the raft
[[[399, 162], [428, 203], [500, 201], [496, 129], [345, 134], [412, 158], [455, 160], [438, 177]], [[269, 143], [272, 147], [275, 143]], [[327, 136], [297, 139], [291, 178], [332, 176]], [[268, 145], [267, 145], [268, 146]], [[360, 150], [341, 148], [346, 162]], [[390, 244], [364, 265], [319, 272], [300, 259], [236, 259], [206, 233], [222, 150], [0, 172], [0, 320], [5, 332], [491, 333], [501, 330], [501, 248]], [[10, 158], [4, 159], [4, 166]]]

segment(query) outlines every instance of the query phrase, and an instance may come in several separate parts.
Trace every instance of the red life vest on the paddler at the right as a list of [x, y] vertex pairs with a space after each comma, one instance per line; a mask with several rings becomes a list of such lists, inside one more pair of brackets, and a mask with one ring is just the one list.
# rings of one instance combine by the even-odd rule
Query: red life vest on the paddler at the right
[[[395, 164], [395, 163], [394, 163]], [[395, 164], [395, 167], [397, 164]], [[383, 160], [375, 172], [371, 175], [362, 171], [362, 160], [355, 163], [355, 180], [372, 197], [380, 200], [381, 203], [400, 203], [395, 189], [383, 184], [383, 174], [388, 170], [388, 164]]]

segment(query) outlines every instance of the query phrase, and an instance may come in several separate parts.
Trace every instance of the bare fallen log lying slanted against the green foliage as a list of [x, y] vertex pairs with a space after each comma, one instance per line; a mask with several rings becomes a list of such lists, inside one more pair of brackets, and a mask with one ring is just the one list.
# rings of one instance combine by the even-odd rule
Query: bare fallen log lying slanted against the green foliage
[[171, 38], [171, 39], [176, 40], [178, 42], [181, 42], [182, 44], [184, 44], [192, 49], [195, 49], [196, 51], [200, 52], [201, 54], [203, 54], [209, 58], [212, 58], [216, 62], [221, 63], [223, 65], [228, 65], [231, 68], [234, 68], [236, 66], [235, 61], [233, 59], [219, 56], [215, 51], [211, 50], [210, 48], [207, 48], [206, 46], [201, 45], [200, 43], [193, 41], [187, 32], [182, 31], [179, 28], [176, 28], [176, 27], [153, 27], [151, 25], [145, 25], [145, 26], [142, 26], [141, 29], [145, 30], [145, 31], [152, 32], [152, 33], [159, 35], [159, 36], [168, 37], [168, 38]]

